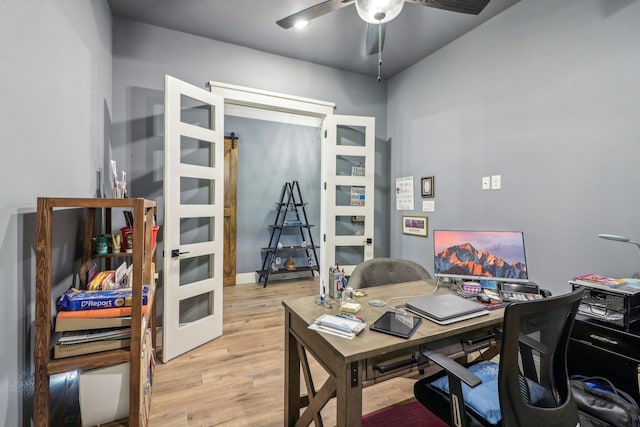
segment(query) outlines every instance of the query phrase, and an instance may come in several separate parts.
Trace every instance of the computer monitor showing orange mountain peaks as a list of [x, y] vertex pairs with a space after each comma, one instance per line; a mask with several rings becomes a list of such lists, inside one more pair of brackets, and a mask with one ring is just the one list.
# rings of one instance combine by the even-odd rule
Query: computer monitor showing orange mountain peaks
[[434, 230], [433, 247], [436, 277], [529, 281], [520, 231]]

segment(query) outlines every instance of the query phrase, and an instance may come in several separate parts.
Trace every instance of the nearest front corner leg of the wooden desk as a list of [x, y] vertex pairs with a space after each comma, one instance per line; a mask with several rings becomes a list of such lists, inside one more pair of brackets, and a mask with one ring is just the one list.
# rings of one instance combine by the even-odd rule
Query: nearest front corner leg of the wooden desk
[[363, 362], [348, 363], [336, 378], [336, 410], [338, 427], [362, 425]]

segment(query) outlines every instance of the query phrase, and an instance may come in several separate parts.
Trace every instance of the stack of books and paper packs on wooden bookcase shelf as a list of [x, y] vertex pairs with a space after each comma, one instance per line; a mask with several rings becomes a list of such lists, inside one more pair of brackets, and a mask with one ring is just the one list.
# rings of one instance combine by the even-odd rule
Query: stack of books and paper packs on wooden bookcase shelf
[[[131, 288], [105, 291], [69, 289], [58, 300], [55, 359], [127, 348], [131, 337]], [[142, 312], [151, 306], [143, 287]]]

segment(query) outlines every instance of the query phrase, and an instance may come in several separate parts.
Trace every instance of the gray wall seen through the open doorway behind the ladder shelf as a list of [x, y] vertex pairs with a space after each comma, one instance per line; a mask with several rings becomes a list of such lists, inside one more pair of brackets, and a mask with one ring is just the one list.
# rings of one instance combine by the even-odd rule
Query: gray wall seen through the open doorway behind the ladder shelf
[[[319, 128], [229, 116], [224, 126], [227, 134], [238, 137], [237, 272], [254, 272], [262, 266], [260, 248], [269, 243], [269, 225], [274, 224], [285, 182], [298, 181], [302, 200], [308, 204], [309, 224], [316, 225], [311, 228], [313, 241], [320, 244]], [[299, 244], [299, 239], [291, 241], [292, 236], [283, 234], [282, 243]], [[304, 251], [292, 253], [296, 254]], [[306, 257], [296, 258], [296, 265], [306, 263]]]

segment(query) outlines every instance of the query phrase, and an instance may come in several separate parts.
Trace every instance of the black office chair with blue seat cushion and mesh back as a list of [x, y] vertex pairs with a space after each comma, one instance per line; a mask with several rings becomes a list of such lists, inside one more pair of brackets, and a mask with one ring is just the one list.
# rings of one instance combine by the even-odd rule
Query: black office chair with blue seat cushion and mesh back
[[446, 374], [416, 382], [416, 399], [459, 427], [576, 426], [578, 409], [569, 386], [566, 352], [582, 292], [507, 306], [498, 364], [482, 361], [467, 369], [425, 351]]

